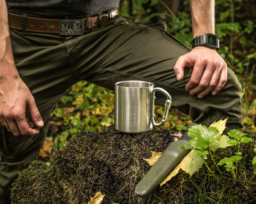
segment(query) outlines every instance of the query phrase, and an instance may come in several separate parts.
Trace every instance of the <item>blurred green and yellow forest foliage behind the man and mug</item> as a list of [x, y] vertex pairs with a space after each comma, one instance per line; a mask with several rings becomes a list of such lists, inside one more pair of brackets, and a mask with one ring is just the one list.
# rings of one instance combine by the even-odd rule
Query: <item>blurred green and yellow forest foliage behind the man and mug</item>
[[[172, 12], [168, 1], [123, 0], [119, 14], [131, 23], [151, 24], [154, 20], [167, 22], [167, 31], [187, 46], [191, 46], [192, 23], [189, 1], [182, 1], [183, 11]], [[145, 6], [146, 5], [146, 6]], [[250, 8], [254, 6], [254, 9]], [[156, 8], [159, 8], [157, 10]], [[243, 124], [255, 129], [255, 4], [246, 0], [216, 0], [216, 35], [228, 66], [236, 73], [243, 88]], [[163, 108], [156, 107], [156, 117]], [[59, 122], [59, 123], [58, 123]], [[186, 129], [188, 116], [171, 110], [162, 128], [175, 131]], [[63, 148], [67, 139], [82, 130], [104, 131], [114, 123], [114, 92], [88, 82], [79, 82], [64, 95], [52, 113], [52, 124], [60, 128], [53, 133], [54, 146]]]

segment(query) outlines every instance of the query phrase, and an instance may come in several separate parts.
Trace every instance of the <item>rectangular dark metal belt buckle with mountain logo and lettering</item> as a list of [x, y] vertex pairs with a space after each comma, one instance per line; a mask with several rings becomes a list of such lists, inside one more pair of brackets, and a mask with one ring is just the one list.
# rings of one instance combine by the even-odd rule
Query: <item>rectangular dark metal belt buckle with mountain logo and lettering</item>
[[82, 35], [84, 31], [84, 20], [60, 20], [60, 35]]

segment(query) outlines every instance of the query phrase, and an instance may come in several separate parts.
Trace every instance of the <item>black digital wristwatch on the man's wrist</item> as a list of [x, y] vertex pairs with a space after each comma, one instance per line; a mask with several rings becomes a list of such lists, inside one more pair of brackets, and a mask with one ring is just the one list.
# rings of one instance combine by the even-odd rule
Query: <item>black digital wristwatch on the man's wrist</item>
[[220, 48], [220, 41], [216, 35], [207, 33], [192, 40], [192, 48], [196, 46], [205, 46], [210, 49], [218, 50]]

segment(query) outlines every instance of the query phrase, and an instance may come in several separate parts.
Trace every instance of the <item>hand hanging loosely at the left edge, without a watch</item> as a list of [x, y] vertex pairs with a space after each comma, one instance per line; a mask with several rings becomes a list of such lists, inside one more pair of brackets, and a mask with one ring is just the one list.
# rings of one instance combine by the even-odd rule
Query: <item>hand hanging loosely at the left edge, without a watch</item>
[[[26, 109], [34, 123], [26, 118]], [[20, 78], [12, 80], [12, 83], [9, 83], [9, 80], [1, 82], [0, 121], [15, 136], [38, 134], [39, 130], [33, 129], [34, 124], [38, 127], [44, 125], [34, 97]]]

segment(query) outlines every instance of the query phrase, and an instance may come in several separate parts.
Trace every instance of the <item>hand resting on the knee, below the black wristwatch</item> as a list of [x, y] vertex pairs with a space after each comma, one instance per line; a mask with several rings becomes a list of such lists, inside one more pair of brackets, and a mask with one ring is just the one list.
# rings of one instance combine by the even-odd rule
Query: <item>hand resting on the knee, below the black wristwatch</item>
[[197, 46], [179, 57], [174, 66], [177, 80], [183, 79], [185, 67], [193, 67], [185, 90], [200, 99], [209, 93], [216, 95], [226, 83], [227, 65], [216, 50]]

